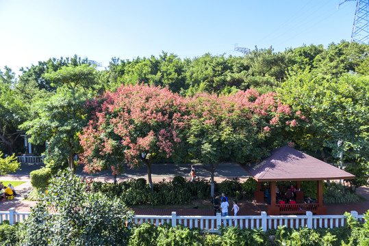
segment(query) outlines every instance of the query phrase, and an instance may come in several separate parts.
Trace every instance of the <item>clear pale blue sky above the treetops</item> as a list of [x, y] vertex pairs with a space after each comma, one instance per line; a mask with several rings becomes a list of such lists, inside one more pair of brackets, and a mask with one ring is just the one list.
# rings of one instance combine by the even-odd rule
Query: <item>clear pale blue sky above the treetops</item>
[[350, 40], [356, 1], [0, 0], [0, 69], [77, 54], [181, 58], [242, 55], [235, 44], [275, 51]]

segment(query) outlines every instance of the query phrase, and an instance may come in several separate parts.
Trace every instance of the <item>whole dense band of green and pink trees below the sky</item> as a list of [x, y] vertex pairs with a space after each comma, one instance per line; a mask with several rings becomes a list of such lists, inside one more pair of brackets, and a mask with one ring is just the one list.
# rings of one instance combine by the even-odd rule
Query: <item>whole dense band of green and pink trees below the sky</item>
[[253, 160], [289, 141], [367, 170], [368, 53], [342, 41], [244, 56], [114, 57], [101, 71], [75, 55], [39, 61], [18, 78], [5, 67], [0, 150], [25, 152], [27, 133], [49, 165], [74, 169], [73, 154], [83, 152], [88, 172], [149, 168], [157, 158], [214, 172], [219, 161]]

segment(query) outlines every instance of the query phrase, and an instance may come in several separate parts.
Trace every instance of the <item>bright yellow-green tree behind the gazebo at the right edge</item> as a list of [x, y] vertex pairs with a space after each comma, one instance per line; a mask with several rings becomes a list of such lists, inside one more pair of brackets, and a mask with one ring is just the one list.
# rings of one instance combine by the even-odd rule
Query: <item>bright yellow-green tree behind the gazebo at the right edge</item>
[[340, 152], [346, 161], [368, 160], [368, 79], [345, 74], [328, 80], [305, 70], [290, 74], [280, 86], [281, 100], [311, 124], [296, 132], [296, 143], [319, 151], [325, 161], [338, 160]]

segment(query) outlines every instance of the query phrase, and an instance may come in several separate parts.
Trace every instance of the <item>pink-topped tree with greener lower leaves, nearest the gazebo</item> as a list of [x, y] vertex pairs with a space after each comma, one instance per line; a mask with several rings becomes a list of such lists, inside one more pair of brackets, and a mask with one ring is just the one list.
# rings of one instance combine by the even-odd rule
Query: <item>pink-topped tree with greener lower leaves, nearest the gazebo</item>
[[188, 152], [210, 172], [212, 196], [220, 161], [247, 163], [266, 157], [283, 144], [286, 130], [298, 124], [290, 107], [275, 96], [251, 89], [228, 96], [198, 94], [188, 102], [192, 111]]

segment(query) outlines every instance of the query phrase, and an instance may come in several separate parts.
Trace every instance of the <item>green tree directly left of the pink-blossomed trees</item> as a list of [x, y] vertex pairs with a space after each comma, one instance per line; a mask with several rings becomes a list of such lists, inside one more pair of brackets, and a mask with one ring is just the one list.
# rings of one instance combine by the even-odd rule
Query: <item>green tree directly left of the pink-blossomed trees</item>
[[84, 108], [84, 98], [70, 94], [56, 94], [49, 100], [38, 102], [34, 120], [24, 122], [20, 127], [30, 135], [31, 143], [43, 144], [47, 141], [44, 155], [57, 163], [68, 161], [75, 173], [73, 156], [80, 150], [78, 133], [88, 120]]

